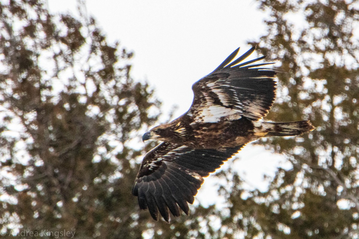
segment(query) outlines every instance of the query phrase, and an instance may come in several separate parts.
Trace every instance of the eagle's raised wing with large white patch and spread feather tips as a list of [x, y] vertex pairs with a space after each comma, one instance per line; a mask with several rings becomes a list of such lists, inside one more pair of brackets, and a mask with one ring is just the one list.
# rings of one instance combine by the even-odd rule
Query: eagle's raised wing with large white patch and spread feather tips
[[242, 116], [259, 120], [265, 116], [275, 98], [278, 72], [262, 67], [273, 63], [251, 64], [265, 56], [239, 64], [254, 50], [230, 63], [238, 48], [216, 70], [194, 83], [194, 99], [186, 114], [195, 122], [230, 121]]

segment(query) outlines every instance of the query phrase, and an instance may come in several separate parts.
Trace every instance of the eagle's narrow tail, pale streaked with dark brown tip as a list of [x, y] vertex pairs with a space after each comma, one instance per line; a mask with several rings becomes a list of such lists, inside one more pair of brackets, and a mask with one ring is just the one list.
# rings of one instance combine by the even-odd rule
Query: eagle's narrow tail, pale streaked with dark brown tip
[[264, 131], [267, 132], [266, 137], [269, 136], [294, 136], [310, 132], [314, 129], [309, 120], [286, 122], [286, 123], [262, 123]]

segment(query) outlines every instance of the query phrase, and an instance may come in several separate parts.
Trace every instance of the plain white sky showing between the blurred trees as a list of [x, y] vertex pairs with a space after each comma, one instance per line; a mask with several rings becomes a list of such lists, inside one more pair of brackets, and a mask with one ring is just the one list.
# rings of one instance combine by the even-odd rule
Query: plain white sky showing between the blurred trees
[[[52, 12], [74, 11], [74, 0], [48, 0]], [[235, 49], [239, 54], [250, 46], [247, 40], [265, 34], [266, 14], [257, 10], [254, 0], [87, 0], [87, 10], [108, 40], [119, 40], [122, 47], [133, 50], [131, 75], [135, 80], [147, 80], [163, 101], [167, 115], [178, 105], [175, 117], [188, 110], [192, 103], [191, 86], [212, 72]], [[250, 56], [255, 58], [256, 54]], [[274, 176], [276, 167], [285, 160], [267, 152], [262, 146], [247, 145], [234, 165], [247, 188], [266, 190], [263, 175]], [[285, 163], [286, 167], [290, 165]], [[222, 167], [226, 167], [225, 165]], [[211, 177], [205, 180], [196, 200], [202, 205], [218, 201], [213, 197]], [[195, 200], [195, 203], [197, 203]], [[219, 204], [224, 203], [219, 201]]]

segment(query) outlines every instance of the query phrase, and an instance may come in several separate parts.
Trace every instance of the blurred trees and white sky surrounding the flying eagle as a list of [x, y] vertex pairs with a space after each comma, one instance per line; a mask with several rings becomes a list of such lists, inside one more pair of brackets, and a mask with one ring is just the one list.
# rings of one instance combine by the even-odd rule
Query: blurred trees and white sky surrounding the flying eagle
[[[0, 3], [4, 238], [358, 238], [358, 1]], [[254, 45], [283, 71], [266, 120], [316, 130], [247, 145], [190, 215], [153, 221], [131, 195], [140, 136]]]

